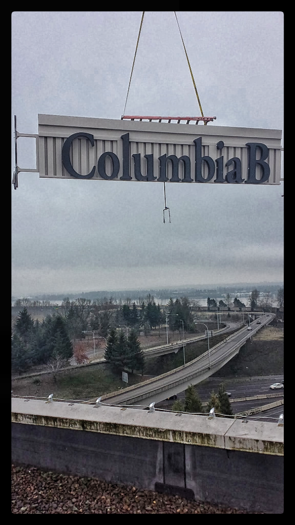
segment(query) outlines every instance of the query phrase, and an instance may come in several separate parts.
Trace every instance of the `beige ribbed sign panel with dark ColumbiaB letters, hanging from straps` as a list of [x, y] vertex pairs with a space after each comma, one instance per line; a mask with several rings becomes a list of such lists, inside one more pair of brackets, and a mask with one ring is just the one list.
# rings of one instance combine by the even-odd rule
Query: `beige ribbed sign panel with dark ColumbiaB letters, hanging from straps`
[[281, 130], [38, 115], [40, 177], [280, 184]]

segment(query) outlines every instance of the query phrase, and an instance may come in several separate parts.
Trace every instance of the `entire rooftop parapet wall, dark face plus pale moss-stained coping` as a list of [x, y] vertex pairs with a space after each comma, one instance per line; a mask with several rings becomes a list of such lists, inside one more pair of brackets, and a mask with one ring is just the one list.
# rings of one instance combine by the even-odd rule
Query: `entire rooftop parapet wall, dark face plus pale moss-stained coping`
[[12, 460], [250, 512], [283, 512], [283, 423], [12, 398]]

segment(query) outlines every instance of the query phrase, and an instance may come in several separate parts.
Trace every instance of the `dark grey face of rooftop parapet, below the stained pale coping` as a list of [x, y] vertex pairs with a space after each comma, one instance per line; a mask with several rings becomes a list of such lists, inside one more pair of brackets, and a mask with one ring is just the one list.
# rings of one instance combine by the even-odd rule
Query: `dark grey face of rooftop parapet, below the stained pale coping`
[[282, 456], [12, 423], [12, 460], [250, 512], [283, 512]]

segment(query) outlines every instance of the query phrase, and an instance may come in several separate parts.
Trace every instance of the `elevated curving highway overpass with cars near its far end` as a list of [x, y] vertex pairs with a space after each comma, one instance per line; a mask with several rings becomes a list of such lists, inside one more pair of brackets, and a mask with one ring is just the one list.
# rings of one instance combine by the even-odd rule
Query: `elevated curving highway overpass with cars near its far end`
[[230, 335], [225, 341], [216, 345], [210, 352], [205, 352], [197, 359], [171, 372], [155, 377], [143, 384], [124, 388], [120, 394], [107, 394], [102, 401], [107, 404], [146, 405], [151, 402], [159, 403], [166, 397], [178, 394], [185, 390], [188, 384], [197, 384], [218, 371], [234, 355], [241, 346], [265, 324], [268, 324], [275, 314], [261, 316], [261, 324], [251, 323], [251, 331], [247, 327]]

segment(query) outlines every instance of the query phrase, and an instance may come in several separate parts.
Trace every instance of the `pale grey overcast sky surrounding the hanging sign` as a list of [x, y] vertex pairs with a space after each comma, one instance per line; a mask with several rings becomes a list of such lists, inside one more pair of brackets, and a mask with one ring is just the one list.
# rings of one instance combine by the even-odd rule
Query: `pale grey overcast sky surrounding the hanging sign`
[[[18, 132], [38, 133], [38, 113], [120, 119], [141, 14], [14, 12]], [[208, 125], [281, 130], [283, 14], [176, 14]], [[200, 115], [173, 12], [145, 13], [125, 114]], [[34, 139], [17, 144], [18, 165], [36, 167]], [[163, 184], [20, 173], [12, 294], [280, 282], [282, 194], [283, 183], [166, 185], [163, 224]]]

